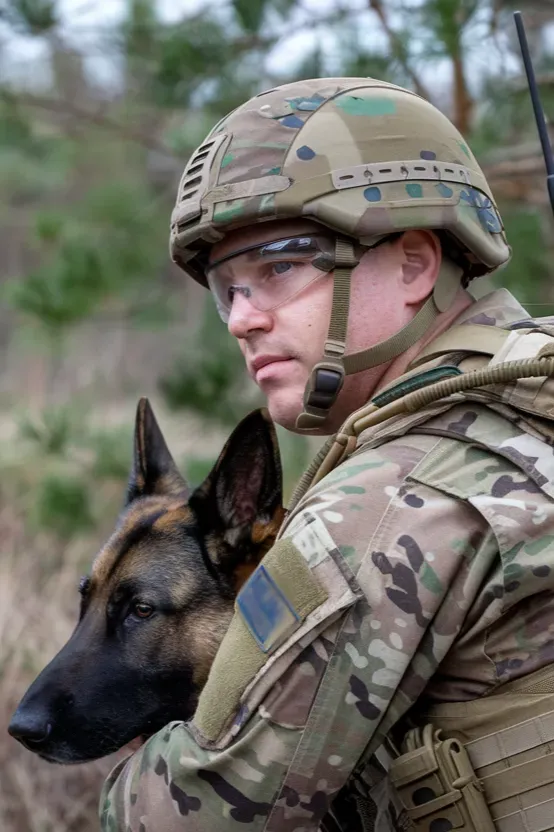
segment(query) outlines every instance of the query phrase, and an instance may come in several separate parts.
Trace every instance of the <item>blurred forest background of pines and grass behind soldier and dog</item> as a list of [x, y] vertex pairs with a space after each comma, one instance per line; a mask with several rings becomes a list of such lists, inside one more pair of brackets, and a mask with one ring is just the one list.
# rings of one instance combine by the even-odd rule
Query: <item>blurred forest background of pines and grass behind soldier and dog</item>
[[[121, 505], [138, 396], [192, 482], [258, 403], [212, 304], [167, 255], [188, 155], [232, 107], [295, 78], [413, 88], [467, 136], [500, 202], [514, 257], [494, 282], [552, 313], [552, 216], [515, 6], [0, 0], [3, 832], [98, 829], [115, 758], [51, 766], [5, 726], [73, 628], [79, 575]], [[552, 115], [554, 2], [517, 6]], [[313, 447], [280, 439], [290, 488]]]

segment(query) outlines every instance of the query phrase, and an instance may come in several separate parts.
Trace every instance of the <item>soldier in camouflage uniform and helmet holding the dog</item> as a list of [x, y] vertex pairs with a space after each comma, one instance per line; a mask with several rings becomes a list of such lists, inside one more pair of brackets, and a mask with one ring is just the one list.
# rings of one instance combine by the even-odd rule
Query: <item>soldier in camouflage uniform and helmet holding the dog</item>
[[464, 139], [381, 81], [269, 90], [192, 155], [171, 251], [273, 419], [334, 440], [102, 829], [554, 829], [552, 332], [467, 290], [510, 250]]

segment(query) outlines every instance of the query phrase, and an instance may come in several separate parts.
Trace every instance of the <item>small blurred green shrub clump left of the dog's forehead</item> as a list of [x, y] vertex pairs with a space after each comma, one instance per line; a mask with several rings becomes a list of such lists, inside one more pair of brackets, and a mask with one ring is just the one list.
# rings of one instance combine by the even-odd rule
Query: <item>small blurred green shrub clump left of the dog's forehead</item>
[[36, 490], [34, 524], [68, 540], [94, 525], [89, 485], [82, 477], [47, 474]]

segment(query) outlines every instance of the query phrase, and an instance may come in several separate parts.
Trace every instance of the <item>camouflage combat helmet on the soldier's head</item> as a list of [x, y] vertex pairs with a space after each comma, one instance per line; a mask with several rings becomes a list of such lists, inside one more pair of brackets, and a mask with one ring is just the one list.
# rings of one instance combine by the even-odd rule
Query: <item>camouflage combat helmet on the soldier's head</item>
[[[316, 221], [343, 242], [368, 246], [394, 232], [429, 229], [440, 233], [449, 255], [443, 271], [457, 264], [454, 276], [451, 269], [439, 275], [409, 331], [350, 362], [356, 357], [343, 357], [344, 343], [329, 350], [328, 339], [325, 356], [333, 353], [333, 371], [340, 365], [343, 376], [399, 355], [448, 308], [461, 279], [490, 272], [510, 257], [488, 183], [458, 130], [425, 99], [372, 78], [285, 84], [223, 118], [182, 176], [171, 218], [171, 257], [207, 286], [209, 250], [228, 231], [290, 218]], [[343, 268], [335, 269], [335, 284], [337, 271], [349, 277], [356, 263], [348, 250], [337, 262]], [[333, 309], [335, 331], [336, 317]], [[345, 340], [348, 300], [342, 317], [341, 333], [331, 340]], [[314, 401], [312, 396], [312, 416], [321, 424], [328, 407]]]

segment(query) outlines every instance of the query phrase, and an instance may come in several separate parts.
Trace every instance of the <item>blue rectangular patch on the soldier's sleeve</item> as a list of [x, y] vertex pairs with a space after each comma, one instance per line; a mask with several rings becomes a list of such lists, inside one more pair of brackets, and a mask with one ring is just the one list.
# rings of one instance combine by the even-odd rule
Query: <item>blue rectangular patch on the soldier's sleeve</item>
[[300, 616], [264, 566], [258, 566], [237, 596], [237, 607], [259, 647], [267, 653]]

